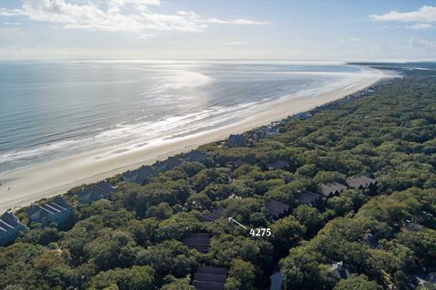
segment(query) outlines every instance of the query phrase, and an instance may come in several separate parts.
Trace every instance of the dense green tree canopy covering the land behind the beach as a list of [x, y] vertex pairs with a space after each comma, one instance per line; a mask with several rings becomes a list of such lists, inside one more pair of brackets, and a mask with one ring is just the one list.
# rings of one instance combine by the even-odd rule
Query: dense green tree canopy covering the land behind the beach
[[[193, 289], [195, 269], [208, 265], [229, 269], [228, 290], [268, 288], [277, 267], [286, 289], [432, 289], [418, 277], [436, 271], [436, 73], [402, 73], [376, 93], [289, 119], [279, 135], [203, 145], [206, 161], [184, 161], [144, 186], [114, 177], [108, 199], [79, 204], [73, 189], [64, 227], [17, 212], [28, 229], [0, 247], [0, 288]], [[271, 169], [277, 160], [286, 167]], [[346, 189], [315, 206], [296, 199], [357, 175], [376, 179], [376, 194]], [[289, 214], [272, 218], [271, 200]], [[203, 222], [216, 208], [223, 218]], [[228, 217], [272, 235], [250, 237]], [[208, 253], [183, 244], [205, 232]], [[347, 279], [332, 275], [338, 263]]]

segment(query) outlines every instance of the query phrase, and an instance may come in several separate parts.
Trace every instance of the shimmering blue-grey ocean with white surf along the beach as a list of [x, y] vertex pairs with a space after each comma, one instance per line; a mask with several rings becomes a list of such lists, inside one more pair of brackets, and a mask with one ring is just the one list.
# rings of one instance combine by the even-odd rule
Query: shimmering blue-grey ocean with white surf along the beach
[[0, 62], [0, 173], [226, 126], [242, 111], [346, 87], [362, 73], [284, 61]]

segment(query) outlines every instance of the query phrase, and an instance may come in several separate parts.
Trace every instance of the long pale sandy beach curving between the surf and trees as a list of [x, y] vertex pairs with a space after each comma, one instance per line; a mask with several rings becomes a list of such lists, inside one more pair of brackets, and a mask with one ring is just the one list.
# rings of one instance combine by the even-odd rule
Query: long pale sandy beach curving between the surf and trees
[[311, 97], [300, 95], [266, 103], [253, 111], [238, 115], [237, 119], [240, 121], [225, 126], [193, 131], [189, 134], [186, 134], [186, 131], [181, 131], [180, 134], [172, 132], [171, 135], [154, 137], [146, 144], [144, 140], [141, 144], [124, 144], [130, 150], [124, 150], [120, 146], [90, 150], [62, 160], [0, 174], [0, 211], [63, 194], [75, 186], [105, 179], [127, 169], [138, 168], [142, 164], [153, 163], [155, 160], [163, 160], [175, 153], [192, 150], [214, 140], [223, 140], [230, 133], [248, 131], [270, 121], [278, 121], [292, 114], [311, 110], [323, 103], [360, 91], [386, 76], [381, 71], [371, 69], [371, 72], [341, 89]]

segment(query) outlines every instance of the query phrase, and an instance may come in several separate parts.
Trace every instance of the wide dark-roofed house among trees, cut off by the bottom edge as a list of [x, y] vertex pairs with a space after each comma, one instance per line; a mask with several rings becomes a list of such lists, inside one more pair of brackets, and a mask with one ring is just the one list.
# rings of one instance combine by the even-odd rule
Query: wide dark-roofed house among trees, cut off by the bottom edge
[[227, 268], [198, 266], [193, 275], [193, 286], [196, 290], [223, 290], [228, 272]]

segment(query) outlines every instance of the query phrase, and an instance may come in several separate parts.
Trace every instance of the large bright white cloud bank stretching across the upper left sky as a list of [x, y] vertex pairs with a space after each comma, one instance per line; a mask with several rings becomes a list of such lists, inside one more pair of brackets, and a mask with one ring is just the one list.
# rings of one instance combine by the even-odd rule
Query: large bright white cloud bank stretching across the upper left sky
[[[56, 24], [65, 29], [132, 32], [148, 38], [150, 31], [203, 32], [208, 24], [270, 24], [248, 19], [205, 19], [193, 11], [154, 13], [160, 0], [23, 0], [19, 9], [0, 8], [3, 16], [24, 16], [29, 20]], [[144, 36], [145, 35], [145, 36]]]

